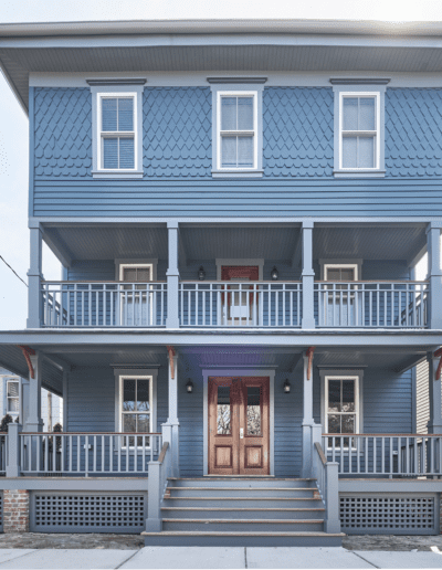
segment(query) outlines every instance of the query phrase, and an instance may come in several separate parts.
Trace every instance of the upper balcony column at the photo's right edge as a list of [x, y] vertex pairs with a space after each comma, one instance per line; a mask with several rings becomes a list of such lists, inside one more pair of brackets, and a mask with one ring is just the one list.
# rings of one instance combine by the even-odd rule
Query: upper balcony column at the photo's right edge
[[428, 278], [430, 281], [429, 321], [431, 328], [442, 328], [441, 229], [427, 228]]

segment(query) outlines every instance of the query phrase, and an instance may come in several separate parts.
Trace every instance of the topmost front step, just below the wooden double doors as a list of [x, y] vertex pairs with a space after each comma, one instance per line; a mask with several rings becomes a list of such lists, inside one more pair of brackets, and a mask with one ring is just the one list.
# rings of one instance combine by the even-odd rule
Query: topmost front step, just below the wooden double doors
[[275, 479], [275, 477], [213, 477], [203, 478], [176, 478], [169, 477], [173, 487], [316, 487], [316, 479]]

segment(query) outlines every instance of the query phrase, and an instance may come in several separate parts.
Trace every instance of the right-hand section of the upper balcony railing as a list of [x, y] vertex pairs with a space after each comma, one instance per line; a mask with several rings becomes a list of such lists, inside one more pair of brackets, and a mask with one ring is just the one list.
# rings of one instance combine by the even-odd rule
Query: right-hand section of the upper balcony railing
[[425, 328], [428, 282], [316, 282], [319, 327]]

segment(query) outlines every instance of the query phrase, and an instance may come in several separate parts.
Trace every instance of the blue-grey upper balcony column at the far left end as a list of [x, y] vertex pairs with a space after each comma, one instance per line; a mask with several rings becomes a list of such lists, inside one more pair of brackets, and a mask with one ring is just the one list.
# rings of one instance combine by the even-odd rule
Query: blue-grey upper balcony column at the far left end
[[30, 229], [31, 262], [28, 272], [28, 328], [42, 326], [43, 303], [41, 295], [42, 275], [42, 231], [40, 228]]

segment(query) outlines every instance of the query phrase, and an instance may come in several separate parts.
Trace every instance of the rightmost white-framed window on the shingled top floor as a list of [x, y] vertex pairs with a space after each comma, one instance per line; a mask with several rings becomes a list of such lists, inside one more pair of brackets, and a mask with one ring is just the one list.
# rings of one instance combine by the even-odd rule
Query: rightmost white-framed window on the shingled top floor
[[341, 169], [379, 168], [379, 93], [340, 93]]

